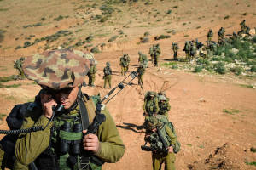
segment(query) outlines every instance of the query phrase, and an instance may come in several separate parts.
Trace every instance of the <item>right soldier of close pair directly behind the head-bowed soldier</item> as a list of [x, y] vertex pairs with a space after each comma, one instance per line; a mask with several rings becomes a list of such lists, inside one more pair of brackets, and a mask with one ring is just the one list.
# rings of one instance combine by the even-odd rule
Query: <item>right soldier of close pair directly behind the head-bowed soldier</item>
[[169, 120], [168, 111], [170, 111], [171, 109], [171, 105], [169, 104], [169, 99], [166, 98], [165, 94], [159, 94], [158, 100], [159, 100], [158, 114], [166, 116], [166, 118]]

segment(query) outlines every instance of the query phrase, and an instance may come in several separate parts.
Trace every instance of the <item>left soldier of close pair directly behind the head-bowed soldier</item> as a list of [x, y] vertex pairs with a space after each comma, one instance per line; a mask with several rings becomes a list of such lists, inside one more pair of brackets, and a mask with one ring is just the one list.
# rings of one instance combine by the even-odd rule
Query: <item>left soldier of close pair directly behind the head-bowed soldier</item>
[[155, 116], [159, 111], [157, 94], [155, 92], [148, 91], [145, 94], [143, 111], [145, 116]]

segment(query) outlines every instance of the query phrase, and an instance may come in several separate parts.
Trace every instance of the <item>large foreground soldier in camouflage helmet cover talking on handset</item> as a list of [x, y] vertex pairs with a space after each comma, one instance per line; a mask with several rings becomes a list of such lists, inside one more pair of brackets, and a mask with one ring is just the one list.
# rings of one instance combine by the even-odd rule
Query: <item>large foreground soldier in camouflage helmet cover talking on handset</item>
[[[42, 129], [20, 133], [14, 169], [102, 169], [104, 162], [116, 162], [123, 156], [125, 146], [112, 116], [106, 108], [99, 109], [100, 105], [96, 109], [99, 97], [81, 92], [89, 66], [88, 59], [69, 49], [46, 51], [25, 60], [27, 78], [42, 90], [38, 100], [12, 111], [23, 112], [22, 129]], [[99, 115], [105, 116], [105, 122], [96, 134], [86, 133], [83, 129], [94, 124]]]

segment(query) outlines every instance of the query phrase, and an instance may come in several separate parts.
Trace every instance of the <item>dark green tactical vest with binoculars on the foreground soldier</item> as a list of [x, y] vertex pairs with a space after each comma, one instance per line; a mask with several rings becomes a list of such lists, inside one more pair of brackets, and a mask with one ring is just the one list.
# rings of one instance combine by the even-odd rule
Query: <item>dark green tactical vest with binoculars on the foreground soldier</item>
[[[95, 107], [96, 98], [92, 98], [92, 100], [86, 102], [87, 110]], [[89, 119], [91, 123], [92, 117], [90, 116]], [[83, 149], [79, 105], [67, 114], [55, 116], [53, 122], [49, 147], [34, 161], [38, 169], [102, 169], [104, 161]]]

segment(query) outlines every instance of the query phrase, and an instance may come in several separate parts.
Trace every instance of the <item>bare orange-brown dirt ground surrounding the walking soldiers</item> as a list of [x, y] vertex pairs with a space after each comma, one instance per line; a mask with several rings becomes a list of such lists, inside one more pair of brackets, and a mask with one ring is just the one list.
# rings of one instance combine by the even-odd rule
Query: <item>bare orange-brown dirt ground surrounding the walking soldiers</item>
[[[190, 12], [184, 12], [182, 10], [182, 8], [189, 6], [189, 1], [184, 0], [184, 2], [184, 5], [183, 3], [178, 3], [179, 9], [177, 10], [177, 15], [181, 19], [174, 18], [173, 20], [175, 22], [172, 22], [170, 26], [165, 25], [167, 19], [160, 22], [162, 24], [161, 26], [152, 26], [152, 28], [137, 27], [137, 23], [135, 23], [129, 29], [125, 28], [125, 31], [128, 32], [128, 37], [131, 36], [130, 39], [108, 44], [108, 47], [104, 48], [102, 53], [95, 54], [96, 60], [98, 61], [98, 65], [96, 66], [98, 69], [96, 73], [96, 87], [83, 88], [83, 91], [90, 95], [100, 93], [101, 96], [108, 93], [109, 89], [102, 88], [102, 70], [107, 61], [110, 62], [113, 69], [112, 86], [114, 87], [122, 81], [125, 78], [120, 76], [119, 57], [122, 53], [129, 54], [131, 57], [129, 71], [137, 70], [137, 52], [140, 50], [146, 54], [148, 53], [149, 46], [157, 43], [151, 37], [150, 42], [137, 44], [139, 40], [139, 36], [136, 34], [137, 31], [142, 35], [143, 32], [149, 29], [153, 32], [153, 35], [157, 35], [158, 31], [163, 31], [166, 28], [175, 28], [177, 30], [177, 34], [173, 35], [170, 39], [158, 41], [162, 50], [160, 63], [164, 63], [166, 62], [165, 59], [172, 58], [171, 44], [173, 41], [180, 43], [178, 57], [183, 57], [181, 50], [183, 43], [186, 40], [196, 37], [202, 42], [206, 41], [209, 28], [212, 28], [215, 33], [213, 39], [217, 40], [216, 33], [220, 26], [224, 26], [228, 33], [238, 31], [240, 28], [239, 23], [243, 19], [247, 20], [248, 26], [256, 26], [255, 15], [253, 14], [253, 8], [255, 9], [256, 4], [253, 4], [253, 1], [235, 2], [226, 0], [222, 3], [214, 2], [215, 8], [209, 14], [207, 11], [212, 6], [212, 3], [209, 1], [203, 1], [202, 5], [204, 8], [196, 11], [196, 14], [195, 2], [190, 4], [192, 6], [189, 8]], [[172, 3], [172, 6], [176, 3]], [[236, 6], [236, 3], [241, 3], [242, 5]], [[226, 6], [222, 6], [222, 4]], [[231, 7], [228, 4], [231, 4]], [[248, 4], [250, 4], [250, 7], [247, 7]], [[6, 4], [6, 8], [9, 8], [11, 5], [11, 3]], [[63, 5], [67, 6], [66, 3], [63, 3]], [[170, 4], [168, 3], [168, 5]], [[65, 8], [67, 8], [66, 6]], [[40, 8], [38, 8], [39, 10]], [[217, 11], [216, 13], [214, 12], [214, 17], [211, 15], [213, 13], [212, 11]], [[247, 15], [241, 15], [247, 11]], [[0, 10], [0, 12], [3, 13], [3, 10]], [[26, 11], [20, 11], [20, 13], [14, 12], [13, 15], [9, 14], [9, 16], [15, 16], [15, 20], [4, 20], [3, 23], [15, 25], [15, 22], [21, 22], [17, 18], [21, 14], [26, 14]], [[36, 16], [36, 13], [33, 14]], [[36, 17], [33, 14], [30, 14], [33, 22], [28, 22], [29, 17], [27, 17], [25, 18], [26, 24], [35, 23], [36, 20], [42, 17], [38, 15], [38, 18], [35, 19]], [[205, 14], [206, 17], [203, 17], [204, 19], [202, 20], [198, 19], [198, 14]], [[229, 20], [223, 20], [223, 16], [226, 14], [230, 14]], [[212, 16], [214, 21], [211, 22], [213, 19], [207, 19], [207, 16]], [[3, 18], [0, 19], [3, 20]], [[150, 20], [154, 20], [154, 18], [150, 18]], [[188, 20], [192, 20], [192, 24], [189, 26], [188, 24], [183, 25], [184, 22], [188, 23]], [[119, 21], [121, 22], [122, 20]], [[75, 22], [76, 20], [72, 19], [63, 21], [59, 23], [58, 29], [66, 29]], [[121, 24], [116, 27], [120, 28]], [[19, 24], [19, 26], [22, 25], [25, 24]], [[199, 25], [201, 28], [196, 29], [195, 27]], [[14, 33], [15, 29], [18, 30], [19, 26], [10, 28], [9, 32], [13, 32], [13, 34], [8, 32], [8, 36], [5, 37], [3, 42], [3, 48], [0, 48], [0, 77], [17, 74], [13, 69], [15, 59], [42, 50], [38, 49], [38, 46], [41, 44], [18, 51], [14, 50], [15, 46], [20, 44], [19, 41], [14, 40], [21, 33], [19, 31], [18, 33]], [[47, 35], [47, 32], [53, 33], [58, 30], [57, 28], [53, 28], [49, 23], [45, 31], [41, 31], [40, 29], [37, 34], [40, 36]], [[29, 35], [29, 31], [26, 30], [24, 34]], [[91, 28], [90, 31], [93, 31], [93, 29]], [[110, 31], [113, 30], [110, 29]], [[186, 34], [189, 37], [184, 37]], [[26, 36], [21, 36], [20, 39], [24, 37]], [[106, 39], [108, 38], [98, 37], [96, 41], [103, 42]], [[85, 81], [88, 82], [87, 77]], [[175, 162], [177, 170], [256, 169], [255, 166], [246, 164], [246, 162], [256, 161], [256, 153], [250, 151], [251, 147], [256, 147], [256, 91], [253, 88], [244, 86], [255, 84], [255, 79], [235, 77], [230, 74], [224, 76], [202, 73], [195, 74], [189, 71], [171, 70], [161, 66], [157, 68], [149, 63], [149, 67], [144, 75], [144, 92], [148, 90], [159, 92], [165, 81], [171, 86], [171, 88], [166, 90], [166, 96], [170, 98], [170, 105], [172, 106], [169, 112], [170, 121], [176, 127], [178, 140], [181, 143], [181, 151], [177, 154]], [[12, 81], [3, 84], [15, 83], [20, 83], [21, 86], [18, 88], [0, 88], [0, 114], [8, 115], [14, 105], [32, 101], [40, 89], [38, 85], [28, 80]], [[144, 120], [143, 90], [137, 85], [136, 78], [131, 85], [128, 85], [107, 105], [119, 129], [121, 138], [125, 143], [125, 155], [115, 164], [104, 165], [103, 169], [105, 170], [152, 169], [150, 152], [142, 151], [140, 148], [144, 144], [144, 133], [140, 129]], [[3, 120], [0, 120], [0, 129], [7, 128], [5, 117], [3, 117]]]

